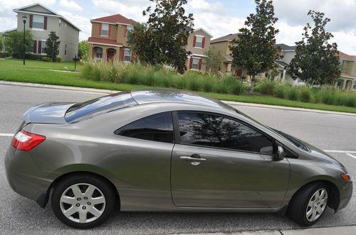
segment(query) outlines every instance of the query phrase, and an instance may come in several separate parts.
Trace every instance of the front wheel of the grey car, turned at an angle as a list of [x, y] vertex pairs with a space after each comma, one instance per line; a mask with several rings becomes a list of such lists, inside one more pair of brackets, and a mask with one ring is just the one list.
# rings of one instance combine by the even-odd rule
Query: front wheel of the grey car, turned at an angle
[[301, 189], [293, 197], [288, 208], [291, 219], [301, 226], [318, 222], [328, 207], [328, 185], [317, 182]]

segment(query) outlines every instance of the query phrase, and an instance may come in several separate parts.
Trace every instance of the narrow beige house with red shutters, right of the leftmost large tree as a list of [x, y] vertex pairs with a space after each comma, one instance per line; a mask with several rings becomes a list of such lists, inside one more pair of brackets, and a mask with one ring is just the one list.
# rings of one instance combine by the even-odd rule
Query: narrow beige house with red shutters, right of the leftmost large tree
[[188, 70], [205, 72], [204, 51], [209, 48], [212, 35], [204, 28], [187, 28], [186, 30], [189, 31], [189, 36], [185, 50], [191, 53], [187, 57], [186, 66]]

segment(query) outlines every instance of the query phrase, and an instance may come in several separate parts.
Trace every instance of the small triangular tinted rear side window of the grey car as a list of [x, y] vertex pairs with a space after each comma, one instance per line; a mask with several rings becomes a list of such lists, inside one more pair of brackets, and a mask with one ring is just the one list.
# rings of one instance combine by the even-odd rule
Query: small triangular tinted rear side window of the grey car
[[120, 136], [140, 138], [147, 141], [173, 143], [172, 113], [165, 112], [147, 116], [123, 126], [114, 133]]

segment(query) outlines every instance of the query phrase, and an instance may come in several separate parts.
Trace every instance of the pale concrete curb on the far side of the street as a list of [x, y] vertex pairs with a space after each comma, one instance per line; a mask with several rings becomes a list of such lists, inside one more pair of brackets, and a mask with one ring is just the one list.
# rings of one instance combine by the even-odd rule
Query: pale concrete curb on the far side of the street
[[[46, 89], [62, 89], [62, 90], [70, 90], [70, 91], [77, 91], [77, 92], [90, 92], [90, 93], [98, 93], [98, 94], [112, 94], [112, 93], [120, 92], [120, 91], [113, 91], [113, 90], [110, 90], [110, 89], [68, 87], [68, 86], [58, 86], [58, 85], [48, 85], [48, 84], [27, 83], [27, 82], [0, 81], [0, 84], [19, 86], [19, 87], [36, 87], [36, 88], [46, 88]], [[268, 104], [229, 102], [229, 101], [224, 101], [224, 100], [222, 100], [222, 102], [224, 102], [226, 104], [229, 104], [229, 105], [232, 105], [232, 106], [251, 106], [251, 107], [265, 108], [265, 109], [282, 109], [282, 110], [290, 110], [290, 111], [306, 111], [306, 112], [319, 113], [319, 114], [336, 114], [336, 115], [343, 115], [343, 116], [356, 116], [356, 114], [344, 113], [344, 112], [340, 112], [340, 111], [326, 111], [326, 110], [318, 110], [318, 109], [303, 109], [303, 108], [268, 105]]]

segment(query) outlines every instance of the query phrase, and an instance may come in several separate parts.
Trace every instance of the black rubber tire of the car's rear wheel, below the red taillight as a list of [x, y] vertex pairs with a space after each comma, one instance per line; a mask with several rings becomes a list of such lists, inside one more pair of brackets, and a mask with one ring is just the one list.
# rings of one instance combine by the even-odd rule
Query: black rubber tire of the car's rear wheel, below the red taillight
[[[103, 203], [103, 204], [98, 205], [99, 207], [101, 206], [101, 209], [103, 211], [102, 211], [101, 215], [98, 216], [97, 219], [94, 218], [95, 219], [94, 221], [83, 222], [83, 223], [75, 222], [75, 221], [72, 221], [71, 219], [75, 219], [74, 217], [76, 217], [76, 214], [73, 214], [73, 216], [71, 216], [71, 219], [68, 219], [62, 212], [62, 207], [64, 207], [64, 206], [70, 207], [69, 204], [66, 205], [66, 204], [61, 203], [61, 197], [62, 197], [63, 193], [64, 192], [70, 193], [70, 191], [68, 191], [68, 187], [71, 187], [71, 186], [77, 185], [77, 184], [83, 184], [84, 185], [83, 190], [85, 190], [85, 184], [93, 185], [93, 186], [97, 187], [98, 190], [95, 190], [92, 195], [95, 195], [95, 193], [97, 193], [97, 194], [102, 193], [102, 195], [105, 199], [105, 204]], [[80, 187], [83, 188], [83, 186], [81, 186], [81, 185], [80, 185]], [[82, 192], [83, 192], [83, 190], [82, 190]], [[73, 195], [73, 197], [75, 198], [75, 195]], [[78, 208], [83, 208], [84, 203], [87, 203], [87, 204], [90, 203], [90, 202], [84, 202], [83, 200], [81, 200], [81, 203], [83, 203], [83, 205], [80, 205]], [[71, 226], [75, 229], [90, 229], [90, 228], [93, 228], [93, 227], [98, 226], [99, 224], [102, 224], [103, 222], [105, 222], [105, 220], [107, 220], [108, 217], [110, 217], [110, 214], [112, 214], [112, 212], [114, 211], [115, 206], [116, 206], [115, 191], [108, 184], [108, 182], [100, 179], [100, 177], [95, 177], [93, 175], [71, 175], [70, 177], [64, 178], [63, 180], [61, 180], [61, 182], [59, 182], [56, 185], [56, 188], [53, 190], [51, 204], [52, 204], [52, 209], [53, 209], [54, 214], [56, 214], [56, 217], [58, 219], [60, 219], [61, 222], [63, 222], [63, 224]], [[91, 207], [93, 207], [93, 206], [94, 206], [94, 203], [91, 205]], [[72, 204], [72, 207], [74, 207], [74, 204]], [[87, 207], [89, 208], [90, 206], [87, 206]], [[84, 212], [84, 213], [86, 214], [87, 218], [90, 216], [93, 217], [93, 214], [90, 214], [90, 212], [89, 212], [89, 214], [87, 214], [88, 212]], [[78, 218], [79, 218], [79, 213], [78, 213]]]

